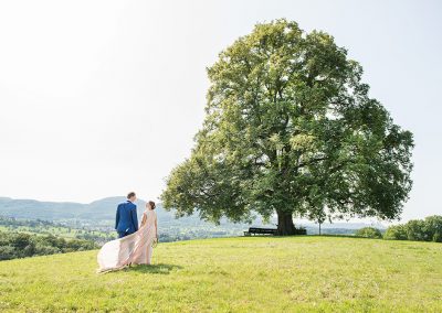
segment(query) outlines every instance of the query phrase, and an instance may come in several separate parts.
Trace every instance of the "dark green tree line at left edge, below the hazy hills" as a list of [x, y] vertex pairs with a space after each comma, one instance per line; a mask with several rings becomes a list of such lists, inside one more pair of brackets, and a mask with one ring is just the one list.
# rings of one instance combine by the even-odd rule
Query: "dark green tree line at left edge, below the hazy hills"
[[0, 231], [0, 260], [96, 249], [90, 240]]

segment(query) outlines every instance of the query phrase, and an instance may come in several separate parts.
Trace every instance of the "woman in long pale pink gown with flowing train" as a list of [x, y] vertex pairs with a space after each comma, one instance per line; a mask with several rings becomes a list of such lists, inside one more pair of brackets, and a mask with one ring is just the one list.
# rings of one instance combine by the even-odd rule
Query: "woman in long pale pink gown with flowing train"
[[139, 229], [126, 237], [106, 242], [98, 252], [98, 272], [118, 270], [129, 265], [150, 265], [152, 245], [158, 240], [155, 202], [146, 203]]

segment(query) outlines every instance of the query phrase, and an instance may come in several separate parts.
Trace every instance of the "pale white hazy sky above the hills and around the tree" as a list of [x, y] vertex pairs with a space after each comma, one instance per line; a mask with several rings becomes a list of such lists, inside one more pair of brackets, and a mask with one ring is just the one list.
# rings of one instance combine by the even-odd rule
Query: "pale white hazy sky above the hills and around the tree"
[[256, 22], [333, 34], [414, 133], [403, 218], [442, 214], [441, 1], [1, 1], [0, 196], [156, 198], [203, 119], [206, 67]]

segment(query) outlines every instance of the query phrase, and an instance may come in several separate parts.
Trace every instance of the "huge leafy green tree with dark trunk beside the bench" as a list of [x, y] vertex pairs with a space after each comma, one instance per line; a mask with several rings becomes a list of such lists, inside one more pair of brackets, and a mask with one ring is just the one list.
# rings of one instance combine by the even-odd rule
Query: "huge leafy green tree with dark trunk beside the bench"
[[411, 188], [412, 133], [368, 95], [361, 66], [333, 36], [277, 20], [257, 24], [208, 68], [202, 129], [161, 198], [178, 216], [199, 211], [250, 220], [399, 217]]

